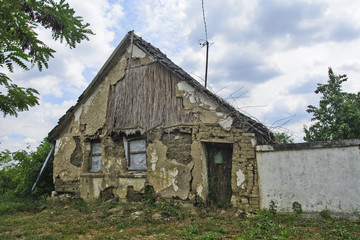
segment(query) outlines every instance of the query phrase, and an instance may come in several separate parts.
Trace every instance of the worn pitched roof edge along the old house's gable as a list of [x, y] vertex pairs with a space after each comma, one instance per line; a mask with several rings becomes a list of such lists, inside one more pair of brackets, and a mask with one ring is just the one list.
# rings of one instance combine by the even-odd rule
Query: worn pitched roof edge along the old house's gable
[[74, 112], [77, 110], [82, 103], [84, 103], [91, 94], [96, 90], [96, 88], [100, 85], [102, 80], [106, 77], [108, 72], [114, 67], [117, 61], [120, 59], [122, 54], [126, 51], [127, 47], [133, 42], [137, 47], [150, 55], [155, 61], [159, 62], [161, 65], [175, 73], [178, 77], [185, 80], [192, 87], [194, 87], [197, 91], [206, 94], [210, 99], [217, 102], [220, 106], [224, 107], [228, 112], [232, 114], [235, 119], [239, 120], [250, 132], [253, 132], [257, 135], [263, 137], [263, 139], [267, 143], [274, 142], [274, 136], [269, 131], [267, 127], [265, 127], [260, 122], [246, 116], [243, 113], [240, 113], [236, 110], [232, 105], [227, 103], [221, 97], [212, 93], [208, 89], [206, 89], [203, 85], [201, 85], [198, 81], [196, 81], [193, 77], [191, 77], [188, 73], [186, 73], [182, 68], [173, 63], [165, 54], [163, 54], [158, 48], [154, 47], [150, 43], [143, 40], [141, 37], [134, 34], [133, 31], [128, 32], [120, 44], [116, 47], [114, 52], [111, 54], [109, 59], [102, 66], [98, 74], [95, 76], [93, 81], [89, 84], [89, 86], [85, 89], [85, 91], [78, 98], [75, 106], [70, 107], [69, 110], [59, 119], [57, 126], [55, 126], [48, 135], [49, 141], [54, 141], [56, 137], [61, 133], [61, 131], [66, 127], [67, 123], [69, 123], [72, 119]]

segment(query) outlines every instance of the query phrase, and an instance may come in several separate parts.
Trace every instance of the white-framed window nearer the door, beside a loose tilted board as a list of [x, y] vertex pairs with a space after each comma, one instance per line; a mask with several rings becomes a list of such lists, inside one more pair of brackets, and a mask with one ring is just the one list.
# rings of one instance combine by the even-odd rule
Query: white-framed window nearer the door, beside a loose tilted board
[[127, 140], [124, 138], [124, 147], [128, 170], [146, 171], [146, 139]]

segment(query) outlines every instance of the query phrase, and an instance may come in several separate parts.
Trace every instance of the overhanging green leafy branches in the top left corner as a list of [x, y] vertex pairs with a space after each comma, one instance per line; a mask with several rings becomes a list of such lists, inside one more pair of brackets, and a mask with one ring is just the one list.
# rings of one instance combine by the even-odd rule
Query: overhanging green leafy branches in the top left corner
[[[83, 23], [79, 16], [75, 16], [65, 0], [59, 3], [54, 0], [1, 0], [0, 1], [0, 66], [14, 71], [14, 63], [25, 70], [37, 66], [39, 71], [48, 67], [50, 57], [54, 57], [53, 49], [38, 39], [35, 32], [41, 26], [50, 29], [52, 38], [65, 42], [70, 48], [76, 43], [88, 39], [94, 34]], [[27, 111], [29, 107], [38, 105], [39, 94], [33, 88], [16, 85], [5, 74], [0, 73], [0, 86], [6, 93], [0, 91], [0, 111], [4, 116], [17, 116], [18, 112]]]

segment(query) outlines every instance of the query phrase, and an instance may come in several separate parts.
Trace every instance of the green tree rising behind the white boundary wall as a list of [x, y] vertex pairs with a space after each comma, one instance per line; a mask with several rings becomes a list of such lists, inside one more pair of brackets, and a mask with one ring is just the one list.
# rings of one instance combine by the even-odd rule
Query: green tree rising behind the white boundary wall
[[360, 92], [347, 93], [341, 84], [346, 75], [335, 75], [329, 68], [327, 84], [318, 84], [316, 94], [321, 94], [319, 107], [309, 105], [307, 112], [315, 121], [304, 127], [305, 141], [331, 141], [360, 137]]

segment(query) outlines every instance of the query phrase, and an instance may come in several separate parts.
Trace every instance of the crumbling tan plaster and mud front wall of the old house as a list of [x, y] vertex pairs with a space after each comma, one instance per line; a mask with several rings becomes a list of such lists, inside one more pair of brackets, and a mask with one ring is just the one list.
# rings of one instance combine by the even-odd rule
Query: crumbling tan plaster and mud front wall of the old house
[[[257, 207], [255, 135], [243, 132], [234, 123], [230, 113], [222, 110], [207, 95], [196, 91], [185, 81], [177, 84], [176, 97], [183, 99], [185, 111], [196, 116], [196, 120], [193, 124], [160, 126], [146, 133], [146, 173], [127, 170], [122, 140], [98, 135], [105, 124], [109, 86], [124, 77], [130, 53], [137, 59], [137, 64], [152, 61], [136, 46], [129, 48], [97, 90], [76, 109], [69, 128], [57, 139], [54, 180], [59, 184], [56, 190], [74, 192], [83, 199], [93, 199], [110, 189], [114, 196], [125, 199], [129, 189], [143, 192], [145, 186], [150, 185], [155, 193], [163, 198], [194, 200], [197, 195], [206, 201], [207, 160], [204, 143], [231, 143], [231, 201], [236, 205]], [[90, 139], [94, 136], [101, 141], [102, 146], [101, 173], [88, 171]], [[81, 146], [76, 146], [77, 142]], [[75, 149], [80, 149], [82, 154], [74, 154]], [[71, 156], [83, 157], [81, 167], [71, 163]], [[68, 185], [69, 187], [66, 187]]]

